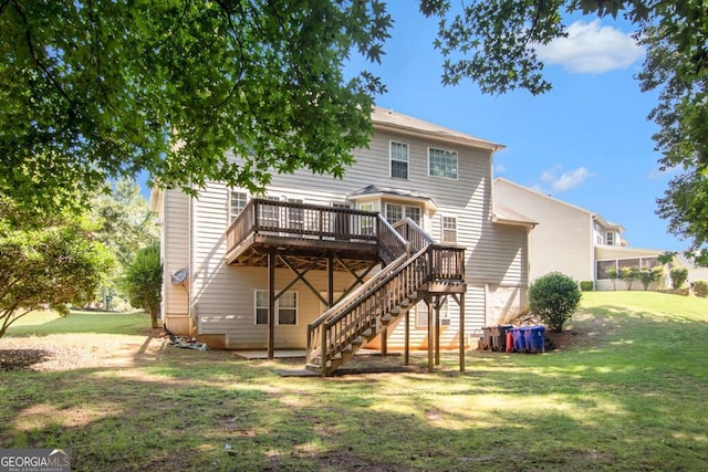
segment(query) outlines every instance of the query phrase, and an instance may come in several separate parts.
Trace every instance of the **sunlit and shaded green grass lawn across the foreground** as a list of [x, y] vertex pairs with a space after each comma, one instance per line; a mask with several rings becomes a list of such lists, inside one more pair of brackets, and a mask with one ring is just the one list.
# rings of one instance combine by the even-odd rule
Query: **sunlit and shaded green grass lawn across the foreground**
[[[8, 340], [51, 344], [73, 316]], [[563, 349], [331, 378], [85, 316], [74, 338], [125, 328], [140, 348], [123, 364], [0, 373], [0, 447], [71, 448], [84, 471], [708, 470], [708, 300], [584, 293]]]

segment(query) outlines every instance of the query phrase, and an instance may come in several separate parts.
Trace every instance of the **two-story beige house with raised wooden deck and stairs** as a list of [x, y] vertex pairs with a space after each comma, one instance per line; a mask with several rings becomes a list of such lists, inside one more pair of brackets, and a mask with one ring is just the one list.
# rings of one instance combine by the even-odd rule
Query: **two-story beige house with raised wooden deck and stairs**
[[525, 305], [533, 221], [492, 211], [502, 146], [382, 108], [372, 119], [343, 179], [274, 175], [260, 198], [219, 182], [154, 192], [171, 331], [308, 349], [333, 369], [360, 345], [469, 347]]

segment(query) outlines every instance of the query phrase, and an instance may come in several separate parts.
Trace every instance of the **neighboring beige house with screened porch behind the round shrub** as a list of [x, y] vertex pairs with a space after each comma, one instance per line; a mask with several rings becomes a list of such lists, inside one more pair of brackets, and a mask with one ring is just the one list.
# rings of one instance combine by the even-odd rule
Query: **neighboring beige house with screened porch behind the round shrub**
[[[494, 179], [494, 201], [513, 208], [539, 227], [529, 240], [529, 276], [531, 282], [549, 272], [562, 272], [577, 282], [593, 281], [595, 290], [613, 290], [607, 269], [653, 268], [664, 251], [626, 245], [624, 228], [602, 216], [566, 203], [537, 190], [498, 177]], [[615, 281], [625, 290], [624, 281]], [[653, 285], [664, 285], [665, 280]], [[643, 290], [639, 281], [632, 290]]]

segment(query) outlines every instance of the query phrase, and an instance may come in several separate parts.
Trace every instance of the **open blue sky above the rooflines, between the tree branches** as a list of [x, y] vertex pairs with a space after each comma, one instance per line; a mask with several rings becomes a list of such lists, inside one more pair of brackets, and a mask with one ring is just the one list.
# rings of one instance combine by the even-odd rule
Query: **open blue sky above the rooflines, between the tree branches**
[[656, 93], [642, 93], [634, 75], [643, 51], [622, 21], [574, 17], [570, 38], [540, 54], [553, 90], [482, 95], [470, 81], [440, 82], [442, 57], [433, 48], [437, 22], [417, 2], [389, 2], [395, 25], [381, 65], [353, 60], [388, 92], [377, 105], [503, 144], [494, 175], [535, 188], [623, 224], [629, 245], [684, 250], [655, 214], [671, 175], [659, 172], [646, 116]]

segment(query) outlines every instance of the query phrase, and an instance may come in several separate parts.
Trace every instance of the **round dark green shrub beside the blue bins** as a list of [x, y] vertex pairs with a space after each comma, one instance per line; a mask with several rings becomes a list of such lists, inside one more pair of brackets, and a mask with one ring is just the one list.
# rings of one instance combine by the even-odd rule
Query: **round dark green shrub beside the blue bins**
[[529, 287], [529, 308], [550, 329], [560, 332], [580, 304], [577, 283], [560, 272], [551, 272], [537, 279]]

